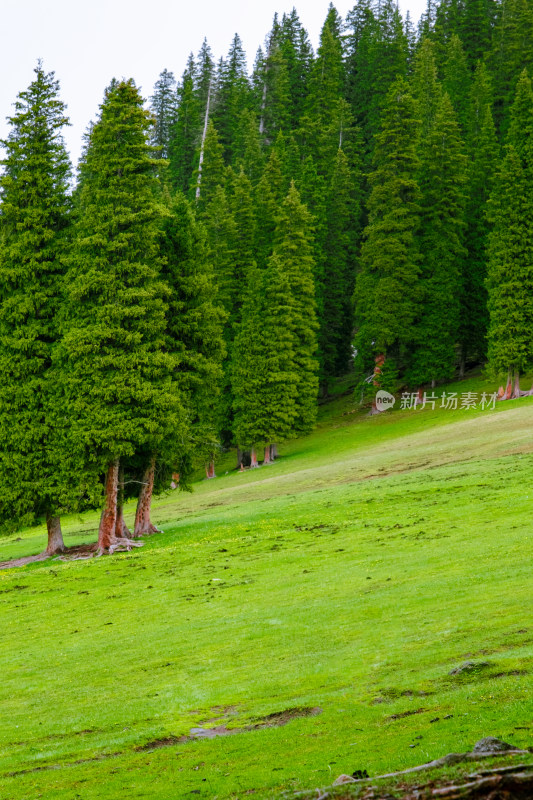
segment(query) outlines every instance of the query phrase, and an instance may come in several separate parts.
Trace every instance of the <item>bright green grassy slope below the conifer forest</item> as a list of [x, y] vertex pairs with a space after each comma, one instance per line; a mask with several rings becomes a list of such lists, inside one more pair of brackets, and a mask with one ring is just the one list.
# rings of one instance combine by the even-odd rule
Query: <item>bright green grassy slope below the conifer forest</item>
[[[325, 407], [272, 467], [225, 475], [228, 457], [161, 498], [141, 550], [0, 572], [2, 800], [271, 797], [532, 743], [533, 401], [351, 411]], [[67, 542], [95, 527], [68, 521]], [[0, 560], [42, 540], [0, 540]], [[485, 666], [449, 675], [466, 660]], [[323, 713], [135, 749], [298, 706]]]

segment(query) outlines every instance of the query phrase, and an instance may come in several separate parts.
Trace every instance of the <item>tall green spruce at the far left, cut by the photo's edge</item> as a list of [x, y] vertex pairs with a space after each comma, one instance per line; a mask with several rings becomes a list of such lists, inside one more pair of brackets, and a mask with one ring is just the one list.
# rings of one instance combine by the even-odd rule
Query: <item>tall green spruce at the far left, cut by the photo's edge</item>
[[54, 73], [41, 63], [2, 142], [0, 177], [0, 507], [16, 525], [46, 517], [47, 552], [64, 549], [70, 492], [68, 410], [53, 369], [68, 243], [68, 124]]

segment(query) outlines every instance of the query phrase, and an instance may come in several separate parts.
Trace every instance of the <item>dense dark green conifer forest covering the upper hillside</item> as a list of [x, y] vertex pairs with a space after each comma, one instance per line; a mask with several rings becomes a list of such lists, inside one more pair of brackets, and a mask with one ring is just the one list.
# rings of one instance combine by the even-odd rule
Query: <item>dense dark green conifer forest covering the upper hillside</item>
[[529, 394], [530, 0], [330, 5], [316, 52], [293, 10], [251, 74], [204, 41], [149, 98], [102, 87], [77, 170], [52, 66], [2, 143], [4, 532], [55, 554], [100, 509], [94, 552], [135, 547], [153, 495], [273, 461], [348, 373], [369, 408], [476, 365]]

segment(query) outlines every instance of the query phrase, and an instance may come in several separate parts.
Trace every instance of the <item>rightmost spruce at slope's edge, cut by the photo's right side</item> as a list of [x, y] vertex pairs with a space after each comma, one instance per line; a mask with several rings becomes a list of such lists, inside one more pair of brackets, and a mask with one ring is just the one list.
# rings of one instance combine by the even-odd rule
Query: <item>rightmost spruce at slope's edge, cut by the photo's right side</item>
[[533, 90], [520, 76], [505, 158], [489, 204], [489, 366], [514, 377], [533, 363]]

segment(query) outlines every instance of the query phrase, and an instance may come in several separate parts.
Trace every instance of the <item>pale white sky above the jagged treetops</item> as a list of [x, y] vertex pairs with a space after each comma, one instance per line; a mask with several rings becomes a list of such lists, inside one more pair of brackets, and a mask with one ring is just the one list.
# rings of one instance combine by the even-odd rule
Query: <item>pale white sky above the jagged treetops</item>
[[[345, 16], [355, 0], [339, 0]], [[17, 94], [33, 80], [42, 58], [54, 71], [72, 127], [65, 139], [76, 163], [82, 135], [111, 78], [134, 78], [149, 97], [163, 69], [180, 78], [191, 52], [207, 37], [215, 60], [239, 33], [251, 65], [280, 15], [296, 6], [316, 48], [329, 0], [0, 0], [0, 138], [8, 131]], [[426, 0], [400, 0], [417, 21]]]

